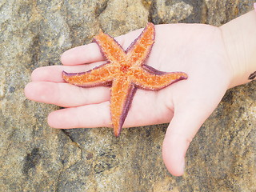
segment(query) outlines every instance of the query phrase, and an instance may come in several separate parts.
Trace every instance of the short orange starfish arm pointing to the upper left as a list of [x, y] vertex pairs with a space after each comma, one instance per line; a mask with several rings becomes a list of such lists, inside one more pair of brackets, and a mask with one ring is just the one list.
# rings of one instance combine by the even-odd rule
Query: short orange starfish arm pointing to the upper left
[[104, 34], [102, 31], [94, 37], [94, 42], [96, 42], [108, 61], [122, 61], [126, 57], [126, 52], [122, 49], [114, 38], [110, 37], [108, 34]]

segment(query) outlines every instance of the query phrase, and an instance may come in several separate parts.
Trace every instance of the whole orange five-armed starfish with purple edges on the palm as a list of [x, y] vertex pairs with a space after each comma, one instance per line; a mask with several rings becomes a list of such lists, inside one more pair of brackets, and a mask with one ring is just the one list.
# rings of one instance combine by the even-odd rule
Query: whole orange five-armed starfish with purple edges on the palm
[[154, 24], [148, 23], [142, 34], [123, 50], [122, 46], [102, 31], [94, 38], [107, 62], [82, 73], [62, 72], [62, 78], [75, 86], [111, 86], [110, 114], [114, 135], [121, 133], [137, 88], [161, 90], [186, 79], [183, 72], [163, 72], [146, 65], [154, 44]]

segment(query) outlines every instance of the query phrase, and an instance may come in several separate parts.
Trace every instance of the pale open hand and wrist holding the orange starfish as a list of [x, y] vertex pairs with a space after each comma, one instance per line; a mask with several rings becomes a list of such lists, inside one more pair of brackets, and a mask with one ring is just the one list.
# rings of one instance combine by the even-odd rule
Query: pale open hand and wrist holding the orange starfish
[[[162, 71], [183, 71], [189, 78], [159, 91], [137, 90], [124, 127], [170, 122], [162, 158], [170, 174], [180, 176], [186, 150], [202, 123], [226, 90], [250, 82], [248, 77], [256, 70], [256, 13], [251, 11], [221, 27], [166, 24], [155, 29], [155, 43], [146, 64]], [[116, 39], [126, 49], [141, 31]], [[62, 70], [82, 72], [106, 62], [98, 46], [90, 43], [67, 50], [61, 61], [63, 66], [33, 71], [26, 97], [66, 107], [49, 114], [51, 127], [111, 127], [109, 87], [81, 88], [62, 79]]]

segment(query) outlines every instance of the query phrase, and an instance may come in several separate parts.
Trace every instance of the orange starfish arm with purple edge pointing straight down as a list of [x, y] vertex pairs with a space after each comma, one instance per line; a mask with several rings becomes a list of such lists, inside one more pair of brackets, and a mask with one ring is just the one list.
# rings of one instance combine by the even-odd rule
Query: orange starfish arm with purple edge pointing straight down
[[112, 83], [110, 112], [116, 137], [121, 133], [135, 90], [135, 86], [125, 77], [115, 79]]

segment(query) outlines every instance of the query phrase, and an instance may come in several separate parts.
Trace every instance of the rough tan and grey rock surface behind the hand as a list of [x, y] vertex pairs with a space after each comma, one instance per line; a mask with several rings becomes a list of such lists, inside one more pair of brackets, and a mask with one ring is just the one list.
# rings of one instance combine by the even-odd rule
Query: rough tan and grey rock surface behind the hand
[[0, 2], [0, 191], [256, 191], [256, 83], [229, 90], [191, 143], [186, 174], [162, 162], [167, 125], [54, 130], [56, 106], [23, 95], [32, 70], [102, 28], [125, 34], [146, 22], [220, 26], [253, 0], [70, 0]]

